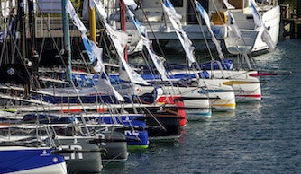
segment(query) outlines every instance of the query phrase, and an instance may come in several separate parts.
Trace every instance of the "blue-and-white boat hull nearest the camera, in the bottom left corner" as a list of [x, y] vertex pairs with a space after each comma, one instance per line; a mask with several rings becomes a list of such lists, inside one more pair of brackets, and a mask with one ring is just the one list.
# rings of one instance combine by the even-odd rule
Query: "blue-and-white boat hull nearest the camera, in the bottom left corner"
[[64, 157], [55, 150], [31, 147], [0, 147], [1, 173], [67, 173]]

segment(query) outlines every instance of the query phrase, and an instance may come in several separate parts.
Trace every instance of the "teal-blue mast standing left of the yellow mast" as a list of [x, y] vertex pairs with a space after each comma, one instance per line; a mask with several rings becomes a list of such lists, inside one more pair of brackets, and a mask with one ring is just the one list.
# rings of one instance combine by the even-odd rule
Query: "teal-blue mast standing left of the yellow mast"
[[71, 43], [70, 43], [70, 31], [69, 31], [69, 18], [68, 12], [66, 11], [67, 0], [61, 1], [61, 10], [62, 10], [62, 21], [63, 21], [63, 37], [64, 37], [64, 49], [65, 53], [63, 57], [68, 57], [68, 67], [67, 67], [67, 80], [71, 81], [72, 79], [72, 67], [71, 67]]

